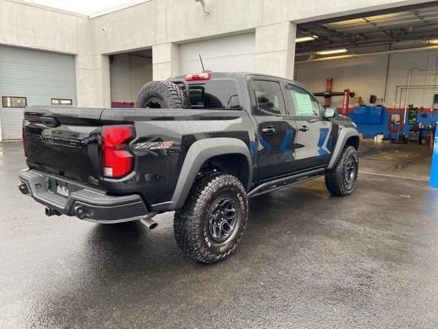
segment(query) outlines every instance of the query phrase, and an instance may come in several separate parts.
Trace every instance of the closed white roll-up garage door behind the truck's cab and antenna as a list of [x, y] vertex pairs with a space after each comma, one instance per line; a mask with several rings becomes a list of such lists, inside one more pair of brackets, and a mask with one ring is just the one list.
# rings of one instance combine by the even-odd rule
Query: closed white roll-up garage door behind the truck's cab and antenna
[[202, 71], [199, 54], [206, 70], [251, 72], [254, 68], [254, 52], [254, 33], [185, 43], [179, 46], [179, 73]]

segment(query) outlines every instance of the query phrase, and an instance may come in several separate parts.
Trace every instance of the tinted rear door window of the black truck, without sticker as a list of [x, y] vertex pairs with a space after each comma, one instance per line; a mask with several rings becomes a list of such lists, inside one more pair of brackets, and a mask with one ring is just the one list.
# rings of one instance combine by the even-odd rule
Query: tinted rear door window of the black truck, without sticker
[[272, 114], [287, 114], [279, 82], [253, 80], [253, 86], [261, 110]]

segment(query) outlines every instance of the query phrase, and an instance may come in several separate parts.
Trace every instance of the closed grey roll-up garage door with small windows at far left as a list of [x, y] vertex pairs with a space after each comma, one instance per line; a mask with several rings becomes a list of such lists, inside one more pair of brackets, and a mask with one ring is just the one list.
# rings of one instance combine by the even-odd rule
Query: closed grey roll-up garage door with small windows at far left
[[76, 104], [75, 56], [0, 46], [0, 97], [1, 137], [21, 138], [24, 102]]

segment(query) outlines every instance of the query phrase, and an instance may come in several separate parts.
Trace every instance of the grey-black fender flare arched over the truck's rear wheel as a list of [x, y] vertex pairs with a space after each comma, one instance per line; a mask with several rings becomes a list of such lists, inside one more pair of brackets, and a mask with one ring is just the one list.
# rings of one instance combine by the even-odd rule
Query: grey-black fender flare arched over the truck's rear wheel
[[240, 154], [246, 158], [248, 162], [248, 182], [244, 187], [246, 191], [249, 191], [253, 180], [253, 162], [248, 146], [244, 141], [227, 137], [201, 139], [190, 146], [185, 156], [177, 186], [170, 202], [171, 208], [179, 209], [183, 206], [196, 179], [196, 175], [205, 161], [214, 156], [227, 154]]

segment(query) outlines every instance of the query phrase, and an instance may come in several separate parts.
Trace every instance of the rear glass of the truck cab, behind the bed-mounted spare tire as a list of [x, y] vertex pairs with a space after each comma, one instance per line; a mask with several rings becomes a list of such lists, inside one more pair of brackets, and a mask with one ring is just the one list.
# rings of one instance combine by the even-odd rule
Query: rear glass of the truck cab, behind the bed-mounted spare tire
[[192, 108], [240, 108], [234, 80], [210, 80], [202, 84], [190, 84]]

